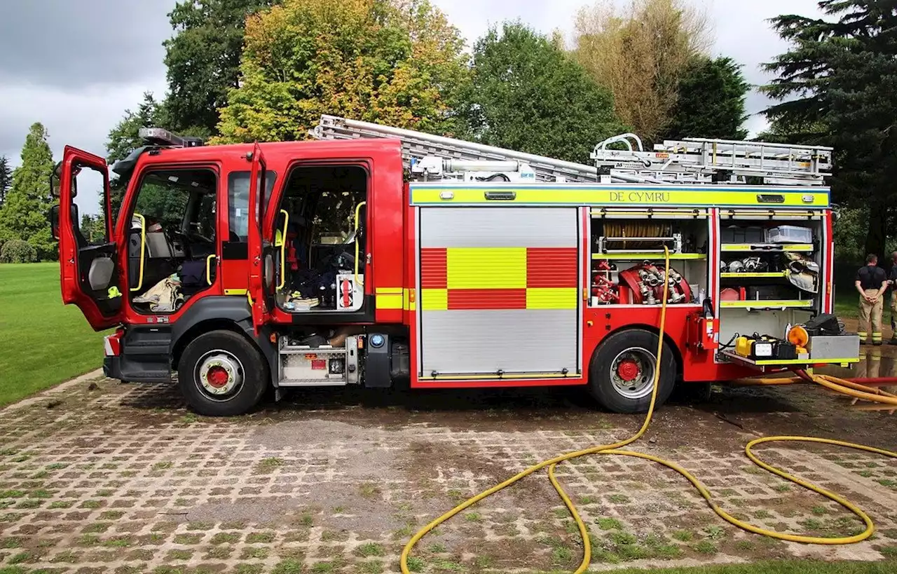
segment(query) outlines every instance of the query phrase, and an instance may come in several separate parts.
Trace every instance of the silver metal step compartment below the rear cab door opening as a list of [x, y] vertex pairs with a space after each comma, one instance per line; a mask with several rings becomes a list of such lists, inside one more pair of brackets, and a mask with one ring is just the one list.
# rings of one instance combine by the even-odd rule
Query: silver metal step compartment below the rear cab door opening
[[278, 387], [342, 387], [357, 385], [358, 339], [346, 337], [342, 347], [278, 342]]

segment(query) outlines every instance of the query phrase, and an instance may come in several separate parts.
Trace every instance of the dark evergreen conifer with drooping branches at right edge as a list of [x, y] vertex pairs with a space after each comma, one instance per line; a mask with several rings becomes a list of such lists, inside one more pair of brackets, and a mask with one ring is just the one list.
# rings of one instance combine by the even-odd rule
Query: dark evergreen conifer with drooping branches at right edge
[[764, 113], [772, 131], [835, 148], [832, 196], [868, 206], [865, 252], [884, 255], [897, 194], [897, 13], [893, 3], [822, 0], [830, 19], [773, 19], [791, 43], [766, 69], [764, 91], [780, 103]]

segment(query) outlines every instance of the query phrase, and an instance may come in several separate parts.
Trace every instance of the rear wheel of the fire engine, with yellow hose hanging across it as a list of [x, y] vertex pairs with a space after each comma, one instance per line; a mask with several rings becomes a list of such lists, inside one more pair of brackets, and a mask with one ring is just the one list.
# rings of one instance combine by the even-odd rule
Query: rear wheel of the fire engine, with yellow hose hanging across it
[[[651, 404], [657, 351], [658, 335], [641, 329], [607, 337], [592, 354], [588, 368], [589, 393], [598, 404], [614, 413], [646, 413]], [[666, 403], [675, 386], [675, 356], [666, 342], [661, 361], [655, 408]]]

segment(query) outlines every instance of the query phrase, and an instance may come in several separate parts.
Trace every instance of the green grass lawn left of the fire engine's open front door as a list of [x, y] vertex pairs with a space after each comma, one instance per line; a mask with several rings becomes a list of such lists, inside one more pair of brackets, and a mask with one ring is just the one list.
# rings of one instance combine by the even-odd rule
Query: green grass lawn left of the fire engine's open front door
[[102, 335], [62, 304], [59, 264], [0, 265], [0, 405], [102, 366]]

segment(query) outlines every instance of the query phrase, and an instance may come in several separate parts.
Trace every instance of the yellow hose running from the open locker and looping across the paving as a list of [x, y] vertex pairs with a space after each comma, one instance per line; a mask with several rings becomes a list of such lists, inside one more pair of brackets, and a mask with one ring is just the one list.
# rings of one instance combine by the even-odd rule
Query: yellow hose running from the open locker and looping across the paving
[[[664, 259], [665, 259], [665, 268], [669, 268], [669, 250], [664, 248]], [[548, 460], [545, 460], [536, 465], [532, 465], [527, 469], [511, 476], [508, 480], [503, 483], [496, 484], [492, 488], [480, 492], [475, 497], [465, 500], [461, 504], [458, 504], [454, 509], [449, 510], [442, 516], [433, 520], [430, 524], [423, 526], [417, 534], [411, 537], [411, 540], [408, 541], [408, 544], [405, 544], [405, 548], [402, 550], [402, 556], [400, 559], [400, 566], [403, 574], [411, 574], [411, 571], [408, 570], [408, 555], [411, 553], [412, 549], [414, 549], [414, 545], [417, 544], [423, 536], [430, 533], [433, 528], [436, 526], [440, 526], [443, 522], [448, 520], [451, 517], [457, 515], [457, 513], [461, 512], [464, 509], [467, 509], [480, 500], [483, 500], [486, 497], [491, 496], [495, 492], [501, 491], [501, 489], [510, 486], [513, 483], [518, 482], [520, 479], [535, 473], [537, 470], [541, 470], [544, 467], [548, 467], [548, 480], [551, 481], [554, 490], [557, 491], [558, 495], [563, 500], [564, 505], [570, 511], [570, 516], [573, 517], [573, 520], [576, 522], [577, 527], [579, 528], [579, 535], [582, 537], [582, 548], [583, 548], [583, 556], [582, 562], [579, 564], [579, 568], [575, 570], [575, 574], [581, 574], [585, 570], [588, 569], [588, 564], [591, 561], [591, 544], [589, 543], [588, 538], [588, 529], [586, 527], [586, 523], [583, 522], [582, 518], [579, 517], [579, 512], [577, 512], [576, 507], [573, 505], [572, 500], [567, 495], [567, 493], [563, 490], [560, 483], [557, 481], [557, 477], [554, 475], [554, 469], [557, 467], [559, 463], [562, 463], [565, 460], [570, 460], [571, 458], [577, 457], [585, 457], [586, 455], [617, 455], [623, 457], [638, 457], [644, 458], [646, 460], [650, 460], [656, 462], [660, 465], [664, 465], [667, 468], [672, 468], [677, 473], [682, 474], [688, 482], [692, 483], [692, 485], [701, 493], [701, 496], [704, 497], [704, 500], [707, 500], [708, 506], [710, 509], [713, 509], [714, 512], [718, 514], [719, 517], [726, 520], [729, 524], [742, 528], [748, 532], [753, 532], [758, 535], [770, 536], [772, 538], [779, 538], [779, 540], [787, 540], [790, 542], [799, 542], [805, 544], [853, 544], [858, 543], [862, 540], [866, 540], [869, 536], [875, 532], [875, 525], [872, 522], [872, 518], [870, 518], [866, 512], [862, 509], [859, 509], [856, 505], [854, 505], [849, 500], [844, 499], [843, 497], [835, 494], [831, 491], [826, 491], [825, 489], [816, 486], [813, 483], [808, 483], [804, 479], [795, 476], [793, 474], [788, 474], [785, 471], [776, 468], [775, 466], [764, 463], [759, 457], [753, 454], [753, 447], [761, 445], [767, 442], [816, 442], [823, 443], [828, 445], [835, 445], [838, 447], [847, 447], [847, 448], [856, 448], [858, 450], [865, 450], [867, 452], [875, 453], [878, 455], [883, 455], [884, 457], [893, 457], [897, 458], [897, 452], [892, 452], [890, 450], [884, 450], [882, 448], [873, 448], [867, 447], [866, 445], [859, 445], [853, 442], [844, 442], [841, 440], [832, 440], [832, 439], [820, 439], [817, 437], [797, 437], [797, 436], [779, 436], [779, 437], [763, 437], [761, 439], [754, 439], [747, 443], [745, 446], [745, 455], [751, 459], [753, 464], [760, 466], [762, 469], [771, 472], [772, 474], [777, 474], [778, 476], [792, 482], [803, 486], [804, 488], [818, 492], [822, 494], [825, 498], [829, 500], [834, 500], [838, 504], [840, 504], [845, 509], [849, 509], [855, 515], [857, 515], [866, 525], [866, 529], [858, 534], [853, 536], [842, 536], [839, 538], [823, 538], [819, 536], [803, 536], [803, 535], [790, 535], [787, 533], [775, 532], [773, 530], [767, 530], [765, 528], [761, 528], [759, 526], [753, 526], [743, 520], [739, 520], [736, 517], [733, 517], [725, 510], [719, 508], [716, 502], [713, 501], [712, 496], [710, 495], [710, 491], [707, 490], [701, 481], [699, 481], [693, 474], [685, 470], [682, 466], [675, 464], [674, 462], [665, 460], [660, 457], [655, 457], [653, 455], [648, 455], [645, 453], [635, 452], [632, 450], [621, 450], [622, 447], [625, 447], [632, 442], [640, 439], [640, 437], [648, 431], [648, 426], [651, 422], [651, 417], [654, 413], [654, 404], [657, 400], [658, 396], [658, 381], [660, 378], [660, 357], [663, 352], [664, 346], [664, 329], [666, 327], [666, 298], [667, 298], [667, 285], [664, 282], [664, 294], [663, 294], [663, 303], [660, 307], [660, 333], [658, 335], [658, 352], [657, 352], [657, 366], [654, 370], [654, 382], [653, 388], [651, 390], [651, 401], [648, 407], [648, 413], [645, 416], [645, 421], [642, 422], [641, 428], [638, 432], [632, 435], [629, 439], [620, 440], [618, 442], [614, 442], [608, 445], [598, 445], [595, 447], [583, 448], [582, 450], [577, 450], [574, 452], [570, 452], [564, 455], [560, 455], [558, 457], [553, 457]], [[804, 371], [798, 371], [798, 376], [801, 378], [805, 378], [808, 380], [812, 380], [815, 383], [823, 385], [823, 387], [830, 388], [840, 393], [844, 393], [849, 396], [855, 396], [858, 398], [863, 398], [869, 401], [875, 401], [880, 403], [887, 404], [897, 404], [897, 396], [891, 395], [890, 393], [884, 393], [884, 391], [878, 392], [878, 389], [874, 389], [871, 387], [864, 387], [862, 385], [858, 385], [856, 383], [850, 383], [849, 381], [845, 381], [844, 379], [831, 377], [831, 376], [821, 376], [821, 375], [810, 375]], [[780, 383], [779, 383], [780, 384]], [[857, 388], [862, 387], [862, 388]]]

